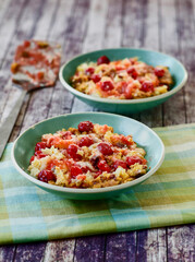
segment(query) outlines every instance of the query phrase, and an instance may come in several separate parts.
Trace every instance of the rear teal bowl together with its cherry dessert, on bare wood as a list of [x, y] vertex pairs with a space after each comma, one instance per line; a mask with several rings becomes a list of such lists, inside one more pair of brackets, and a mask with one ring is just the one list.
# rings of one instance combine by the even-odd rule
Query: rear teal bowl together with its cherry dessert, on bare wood
[[[109, 63], [98, 64], [102, 57], [107, 57]], [[115, 63], [120, 63], [119, 67]], [[185, 68], [175, 58], [133, 48], [102, 49], [77, 56], [61, 67], [59, 76], [62, 85], [84, 103], [125, 115], [160, 105], [187, 80]]]

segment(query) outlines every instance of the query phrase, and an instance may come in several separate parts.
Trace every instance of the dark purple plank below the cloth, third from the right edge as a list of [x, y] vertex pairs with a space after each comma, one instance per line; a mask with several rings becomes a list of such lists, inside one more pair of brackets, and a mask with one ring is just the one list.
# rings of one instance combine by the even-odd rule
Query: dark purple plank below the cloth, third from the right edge
[[136, 231], [107, 236], [106, 260], [114, 262], [136, 261]]

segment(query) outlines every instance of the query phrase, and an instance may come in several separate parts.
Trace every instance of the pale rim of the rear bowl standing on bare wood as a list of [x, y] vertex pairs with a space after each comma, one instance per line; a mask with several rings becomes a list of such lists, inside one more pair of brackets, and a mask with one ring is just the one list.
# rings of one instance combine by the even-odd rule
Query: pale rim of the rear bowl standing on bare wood
[[[87, 94], [84, 94], [80, 91], [76, 91], [75, 88], [73, 88], [63, 78], [63, 70], [64, 68], [70, 63], [72, 62], [73, 60], [76, 60], [77, 58], [80, 57], [83, 57], [83, 56], [90, 56], [92, 53], [95, 53], [95, 52], [98, 52], [98, 51], [113, 51], [113, 50], [135, 50], [135, 51], [145, 51], [145, 52], [155, 52], [155, 53], [159, 53], [159, 55], [163, 55], [166, 57], [169, 57], [171, 59], [173, 59], [175, 62], [178, 62], [180, 64], [180, 67], [182, 68], [182, 70], [184, 71], [184, 78], [182, 80], [182, 82], [176, 85], [174, 88], [172, 88], [171, 91], [164, 93], [164, 94], [161, 94], [161, 95], [157, 95], [157, 96], [153, 96], [153, 97], [146, 97], [146, 98], [138, 98], [138, 99], [109, 99], [109, 98], [101, 98], [101, 97], [95, 97], [95, 96], [92, 96], [92, 95], [87, 95]], [[188, 78], [188, 74], [187, 74], [187, 71], [185, 69], [185, 67], [183, 66], [182, 62], [180, 62], [178, 59], [175, 59], [174, 57], [170, 56], [170, 55], [167, 55], [164, 52], [160, 52], [160, 51], [156, 51], [156, 50], [151, 50], [151, 49], [145, 49], [145, 48], [126, 48], [126, 47], [121, 47], [121, 48], [106, 48], [106, 49], [98, 49], [98, 50], [94, 50], [94, 51], [90, 51], [90, 52], [85, 52], [85, 53], [82, 53], [82, 55], [78, 55], [78, 56], [75, 56], [73, 57], [71, 60], [69, 60], [68, 62], [63, 63], [60, 68], [60, 72], [59, 72], [59, 79], [60, 79], [60, 82], [62, 83], [62, 85], [68, 90], [70, 91], [71, 93], [73, 93], [74, 95], [77, 95], [82, 98], [86, 98], [88, 100], [93, 100], [93, 102], [98, 102], [98, 103], [108, 103], [108, 104], [141, 104], [141, 103], [149, 103], [149, 102], [155, 102], [155, 100], [159, 100], [159, 99], [162, 99], [162, 98], [166, 98], [166, 97], [169, 97], [169, 96], [172, 96], [173, 94], [175, 94], [178, 91], [180, 91], [186, 83], [187, 81], [187, 78]]]

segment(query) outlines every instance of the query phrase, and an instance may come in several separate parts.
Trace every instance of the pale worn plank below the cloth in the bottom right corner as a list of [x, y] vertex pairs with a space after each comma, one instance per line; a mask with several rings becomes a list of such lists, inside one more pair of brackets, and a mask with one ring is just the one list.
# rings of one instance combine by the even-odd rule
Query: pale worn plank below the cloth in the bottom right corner
[[168, 261], [195, 261], [195, 225], [168, 228]]

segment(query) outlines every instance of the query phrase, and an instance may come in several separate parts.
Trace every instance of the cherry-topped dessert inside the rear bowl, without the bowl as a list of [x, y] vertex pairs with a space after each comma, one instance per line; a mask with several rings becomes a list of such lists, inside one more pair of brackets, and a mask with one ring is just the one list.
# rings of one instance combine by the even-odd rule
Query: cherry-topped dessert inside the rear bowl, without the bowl
[[138, 99], [167, 93], [173, 84], [169, 69], [137, 58], [110, 61], [107, 56], [76, 68], [71, 85], [87, 95], [110, 99]]

